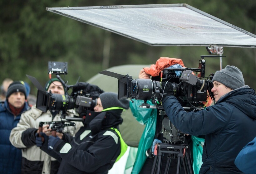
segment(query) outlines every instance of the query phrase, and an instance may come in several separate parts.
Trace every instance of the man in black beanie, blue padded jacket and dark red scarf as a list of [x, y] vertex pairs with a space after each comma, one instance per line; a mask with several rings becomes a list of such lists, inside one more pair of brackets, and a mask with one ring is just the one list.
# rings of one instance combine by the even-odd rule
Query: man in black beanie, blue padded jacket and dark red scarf
[[29, 109], [23, 81], [12, 82], [6, 92], [6, 100], [0, 103], [0, 173], [21, 173], [21, 149], [9, 141], [12, 128], [17, 126], [21, 114]]

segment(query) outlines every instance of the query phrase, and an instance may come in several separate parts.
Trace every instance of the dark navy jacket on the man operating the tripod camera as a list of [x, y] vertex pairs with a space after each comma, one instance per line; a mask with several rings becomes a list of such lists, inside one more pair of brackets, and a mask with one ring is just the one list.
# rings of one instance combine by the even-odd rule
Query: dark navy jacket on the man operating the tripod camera
[[234, 160], [256, 136], [254, 89], [235, 89], [214, 106], [197, 112], [186, 112], [174, 96], [165, 97], [163, 106], [176, 128], [190, 135], [205, 135], [199, 174], [242, 173]]

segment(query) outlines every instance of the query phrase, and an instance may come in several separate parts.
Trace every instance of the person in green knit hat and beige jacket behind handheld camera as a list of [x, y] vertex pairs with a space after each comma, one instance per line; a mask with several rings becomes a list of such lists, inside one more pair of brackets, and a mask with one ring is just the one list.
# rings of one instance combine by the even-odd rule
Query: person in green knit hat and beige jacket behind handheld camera
[[[45, 84], [45, 90], [53, 94], [64, 95], [66, 93], [62, 83], [57, 78], [52, 78]], [[67, 110], [67, 116], [73, 117], [75, 111]], [[54, 174], [57, 173], [60, 163], [47, 153], [36, 146], [36, 133], [38, 132], [40, 122], [61, 121], [59, 111], [48, 110], [43, 112], [33, 105], [30, 110], [24, 112], [20, 118], [17, 127], [13, 128], [10, 135], [10, 142], [14, 147], [22, 149], [22, 173], [33, 174]], [[63, 128], [62, 133], [57, 133], [62, 137], [63, 133], [71, 136], [83, 126], [81, 122], [76, 122], [76, 127], [68, 126]], [[43, 125], [43, 132], [47, 135], [52, 134], [48, 124]]]

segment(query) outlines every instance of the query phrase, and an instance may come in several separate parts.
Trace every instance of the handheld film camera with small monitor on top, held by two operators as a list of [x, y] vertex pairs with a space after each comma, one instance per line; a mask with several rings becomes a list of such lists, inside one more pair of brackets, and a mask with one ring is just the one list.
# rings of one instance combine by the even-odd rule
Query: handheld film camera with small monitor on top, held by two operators
[[[56, 74], [65, 91], [72, 89], [72, 92], [70, 95], [67, 92], [64, 95], [47, 92], [34, 77], [27, 75], [38, 89], [36, 108], [43, 112], [55, 110], [65, 114], [67, 109], [76, 109], [76, 113], [81, 118], [86, 115], [88, 109], [93, 109], [96, 105], [96, 99], [104, 92], [98, 86], [86, 82], [67, 85], [60, 77], [60, 74], [67, 74], [67, 62], [48, 62], [48, 74]], [[54, 84], [54, 82], [52, 83]]]

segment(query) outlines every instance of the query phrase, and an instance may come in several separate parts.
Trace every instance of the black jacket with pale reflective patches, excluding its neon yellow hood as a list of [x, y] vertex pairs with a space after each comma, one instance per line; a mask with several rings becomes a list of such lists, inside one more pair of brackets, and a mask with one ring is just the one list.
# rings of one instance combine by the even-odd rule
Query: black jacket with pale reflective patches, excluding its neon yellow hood
[[[63, 138], [67, 143], [59, 140], [53, 147], [62, 158], [58, 174], [107, 174], [121, 152], [120, 137], [110, 129], [122, 123], [121, 112], [122, 109], [101, 112], [81, 127], [70, 142], [70, 138]], [[66, 147], [70, 148], [67, 152]]]

